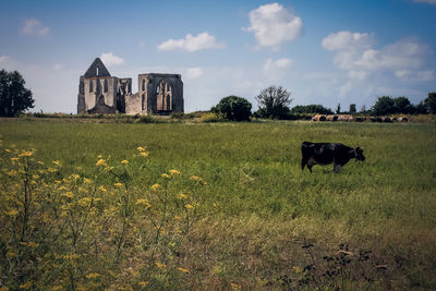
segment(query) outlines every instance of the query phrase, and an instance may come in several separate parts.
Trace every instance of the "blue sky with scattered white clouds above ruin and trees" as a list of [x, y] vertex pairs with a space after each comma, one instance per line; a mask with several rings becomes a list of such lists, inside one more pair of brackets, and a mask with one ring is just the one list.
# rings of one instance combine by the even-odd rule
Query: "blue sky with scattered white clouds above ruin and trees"
[[358, 110], [436, 90], [436, 0], [0, 0], [0, 69], [19, 71], [31, 111], [76, 113], [95, 58], [112, 76], [182, 75], [185, 112], [270, 85], [290, 107]]

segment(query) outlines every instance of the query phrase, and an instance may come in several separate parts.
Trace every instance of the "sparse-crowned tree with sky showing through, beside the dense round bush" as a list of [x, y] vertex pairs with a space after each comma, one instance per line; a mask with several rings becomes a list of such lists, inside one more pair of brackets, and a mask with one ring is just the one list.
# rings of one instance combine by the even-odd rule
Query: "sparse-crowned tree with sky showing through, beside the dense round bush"
[[263, 118], [284, 119], [289, 114], [289, 106], [292, 102], [291, 93], [281, 86], [269, 86], [256, 97]]

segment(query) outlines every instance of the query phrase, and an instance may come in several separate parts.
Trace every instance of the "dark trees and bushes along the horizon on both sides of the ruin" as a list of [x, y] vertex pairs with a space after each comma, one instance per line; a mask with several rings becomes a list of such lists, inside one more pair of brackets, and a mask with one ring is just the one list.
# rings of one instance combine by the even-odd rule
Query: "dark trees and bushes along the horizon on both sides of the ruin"
[[[7, 72], [0, 70], [0, 117], [14, 117], [28, 108], [34, 108], [35, 100], [32, 92], [24, 87], [25, 81], [17, 72]], [[252, 104], [239, 96], [227, 96], [222, 98], [218, 105], [214, 106], [210, 111], [221, 114], [225, 119], [231, 121], [250, 120], [255, 118], [266, 119], [292, 119], [296, 114], [426, 114], [436, 113], [436, 92], [428, 93], [428, 96], [417, 105], [412, 105], [408, 97], [378, 97], [374, 106], [366, 110], [362, 107], [358, 112], [355, 105], [351, 104], [349, 111], [342, 112], [340, 104], [334, 112], [330, 108], [322, 105], [299, 105], [290, 108], [293, 99], [291, 93], [282, 86], [269, 86], [256, 96], [258, 110], [252, 113]]]

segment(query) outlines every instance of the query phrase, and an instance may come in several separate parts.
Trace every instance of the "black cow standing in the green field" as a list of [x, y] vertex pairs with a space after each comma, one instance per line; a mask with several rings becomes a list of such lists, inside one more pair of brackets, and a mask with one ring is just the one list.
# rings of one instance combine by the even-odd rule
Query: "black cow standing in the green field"
[[301, 145], [301, 170], [307, 166], [308, 171], [312, 173], [314, 165], [329, 165], [334, 163], [334, 171], [337, 173], [340, 168], [344, 166], [350, 159], [364, 161], [363, 148], [349, 147], [342, 144], [334, 143], [310, 143], [303, 142]]

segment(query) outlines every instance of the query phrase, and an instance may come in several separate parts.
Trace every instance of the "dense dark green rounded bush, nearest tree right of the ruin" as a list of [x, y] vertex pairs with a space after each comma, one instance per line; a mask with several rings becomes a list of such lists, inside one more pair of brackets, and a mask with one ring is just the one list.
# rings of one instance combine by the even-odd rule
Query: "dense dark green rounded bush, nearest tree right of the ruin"
[[221, 113], [228, 120], [244, 121], [250, 120], [252, 104], [242, 97], [227, 96], [217, 106], [213, 107], [210, 111]]

